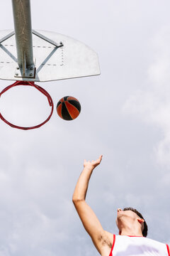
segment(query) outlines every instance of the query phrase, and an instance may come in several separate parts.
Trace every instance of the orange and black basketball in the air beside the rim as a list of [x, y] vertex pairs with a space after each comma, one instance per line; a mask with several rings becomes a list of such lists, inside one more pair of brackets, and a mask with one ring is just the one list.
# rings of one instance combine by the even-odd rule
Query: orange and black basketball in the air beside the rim
[[57, 103], [57, 114], [64, 120], [73, 120], [79, 116], [81, 105], [72, 96], [65, 96]]

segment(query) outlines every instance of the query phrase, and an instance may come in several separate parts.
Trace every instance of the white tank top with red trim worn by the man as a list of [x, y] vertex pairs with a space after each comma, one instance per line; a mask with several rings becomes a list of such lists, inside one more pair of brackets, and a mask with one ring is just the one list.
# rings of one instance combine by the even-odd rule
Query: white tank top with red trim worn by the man
[[155, 240], [128, 236], [113, 235], [113, 245], [109, 256], [170, 256], [168, 245]]

